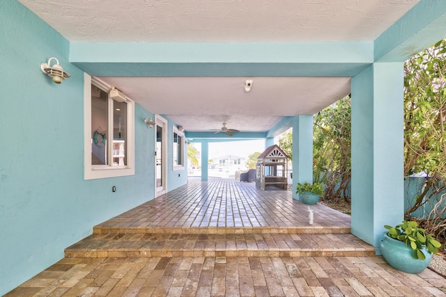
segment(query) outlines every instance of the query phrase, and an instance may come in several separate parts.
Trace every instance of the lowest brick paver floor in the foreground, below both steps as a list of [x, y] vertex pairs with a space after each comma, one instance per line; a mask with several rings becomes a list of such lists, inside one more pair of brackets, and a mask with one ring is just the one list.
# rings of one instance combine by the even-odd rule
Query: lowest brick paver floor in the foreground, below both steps
[[446, 296], [382, 257], [66, 258], [6, 296]]

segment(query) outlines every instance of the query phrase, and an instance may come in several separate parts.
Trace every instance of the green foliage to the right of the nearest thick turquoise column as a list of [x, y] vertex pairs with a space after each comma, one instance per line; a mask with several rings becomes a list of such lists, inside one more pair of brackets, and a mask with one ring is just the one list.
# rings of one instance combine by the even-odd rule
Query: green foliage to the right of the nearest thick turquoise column
[[[429, 175], [422, 193], [406, 216], [445, 190], [446, 181], [446, 40], [415, 54], [404, 65], [404, 176]], [[428, 194], [433, 193], [433, 194]], [[437, 203], [426, 222], [429, 232], [441, 234], [446, 220], [443, 204]], [[441, 209], [443, 208], [443, 210]]]

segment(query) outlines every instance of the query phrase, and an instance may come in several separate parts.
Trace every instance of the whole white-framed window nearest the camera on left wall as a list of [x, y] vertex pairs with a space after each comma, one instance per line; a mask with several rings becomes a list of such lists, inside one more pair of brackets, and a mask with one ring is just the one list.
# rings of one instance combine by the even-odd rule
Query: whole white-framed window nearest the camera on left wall
[[84, 178], [133, 175], [134, 102], [114, 100], [110, 86], [84, 78]]

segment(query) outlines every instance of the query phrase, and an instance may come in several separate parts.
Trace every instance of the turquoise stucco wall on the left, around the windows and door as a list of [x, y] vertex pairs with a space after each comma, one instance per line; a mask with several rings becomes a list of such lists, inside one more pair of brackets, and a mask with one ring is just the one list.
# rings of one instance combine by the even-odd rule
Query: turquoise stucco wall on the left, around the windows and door
[[[136, 105], [134, 176], [84, 181], [84, 73], [68, 62], [68, 40], [17, 1], [0, 1], [0, 27], [3, 295], [63, 258], [95, 224], [153, 199], [155, 129]], [[52, 56], [72, 75], [62, 84], [40, 70]], [[171, 172], [169, 190], [185, 175]]]

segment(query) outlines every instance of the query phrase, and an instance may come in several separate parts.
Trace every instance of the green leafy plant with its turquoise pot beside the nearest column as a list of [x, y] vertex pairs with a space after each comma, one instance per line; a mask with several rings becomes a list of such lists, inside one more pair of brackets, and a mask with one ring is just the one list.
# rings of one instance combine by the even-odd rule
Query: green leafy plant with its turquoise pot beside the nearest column
[[403, 221], [395, 227], [385, 225], [380, 251], [387, 263], [406, 273], [420, 273], [429, 266], [432, 254], [438, 252], [441, 243], [426, 234], [415, 221]]

